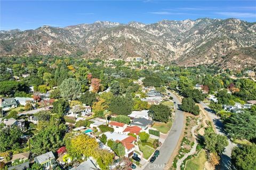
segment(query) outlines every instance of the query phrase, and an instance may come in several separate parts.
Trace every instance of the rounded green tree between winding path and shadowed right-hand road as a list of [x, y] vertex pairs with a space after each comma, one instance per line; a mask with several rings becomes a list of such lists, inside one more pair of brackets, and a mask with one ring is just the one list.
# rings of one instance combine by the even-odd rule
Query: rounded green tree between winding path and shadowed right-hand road
[[227, 137], [223, 135], [206, 131], [204, 135], [204, 144], [205, 148], [210, 152], [221, 154], [225, 147], [228, 146], [228, 140]]

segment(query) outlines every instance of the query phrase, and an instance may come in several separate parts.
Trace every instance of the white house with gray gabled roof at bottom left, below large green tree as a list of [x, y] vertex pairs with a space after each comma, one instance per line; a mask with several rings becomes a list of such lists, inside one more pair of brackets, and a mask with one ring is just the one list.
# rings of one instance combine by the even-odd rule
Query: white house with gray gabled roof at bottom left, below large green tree
[[51, 167], [54, 166], [55, 156], [53, 155], [52, 151], [50, 151], [35, 157], [34, 160], [35, 163], [42, 165], [44, 169], [50, 169]]

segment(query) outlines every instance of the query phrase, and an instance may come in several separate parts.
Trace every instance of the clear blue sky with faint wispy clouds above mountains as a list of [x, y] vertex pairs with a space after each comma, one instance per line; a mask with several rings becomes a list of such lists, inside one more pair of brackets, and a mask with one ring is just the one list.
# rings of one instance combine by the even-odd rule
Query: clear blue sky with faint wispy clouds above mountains
[[198, 18], [256, 21], [256, 1], [2, 1], [0, 30], [95, 21], [154, 23]]

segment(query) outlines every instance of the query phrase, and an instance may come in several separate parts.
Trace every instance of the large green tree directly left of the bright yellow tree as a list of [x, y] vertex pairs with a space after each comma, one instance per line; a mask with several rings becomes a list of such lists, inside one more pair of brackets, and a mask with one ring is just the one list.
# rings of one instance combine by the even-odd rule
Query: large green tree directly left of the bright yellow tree
[[31, 150], [35, 154], [55, 151], [60, 146], [63, 146], [63, 137], [67, 129], [65, 124], [58, 124], [57, 122], [45, 123], [45, 128], [31, 138]]

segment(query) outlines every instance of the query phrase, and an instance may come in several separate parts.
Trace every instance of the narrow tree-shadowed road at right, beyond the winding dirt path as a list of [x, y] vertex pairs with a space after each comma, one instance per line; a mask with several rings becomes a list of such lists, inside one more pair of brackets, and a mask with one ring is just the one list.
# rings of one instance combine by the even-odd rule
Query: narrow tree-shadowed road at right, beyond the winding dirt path
[[[209, 115], [209, 118], [213, 121], [213, 124], [215, 125], [216, 131], [218, 134], [226, 135], [223, 128], [224, 125], [220, 121], [220, 117], [215, 115], [211, 109], [203, 102], [200, 103], [200, 105], [204, 108], [206, 113]], [[231, 151], [235, 147], [233, 143], [228, 139], [228, 146], [225, 148], [225, 151], [223, 151], [221, 155], [221, 164], [220, 164], [220, 169], [222, 170], [230, 170], [234, 169], [231, 165]]]

